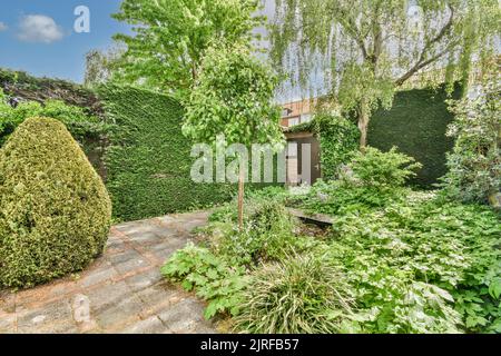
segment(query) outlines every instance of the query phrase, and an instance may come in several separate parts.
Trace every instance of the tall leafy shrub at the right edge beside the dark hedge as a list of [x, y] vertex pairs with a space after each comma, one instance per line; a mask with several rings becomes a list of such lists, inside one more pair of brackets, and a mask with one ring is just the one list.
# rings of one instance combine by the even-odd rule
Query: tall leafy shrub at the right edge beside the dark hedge
[[443, 187], [449, 198], [487, 202], [501, 192], [501, 87], [499, 73], [478, 98], [453, 102], [449, 136], [455, 145], [448, 155]]

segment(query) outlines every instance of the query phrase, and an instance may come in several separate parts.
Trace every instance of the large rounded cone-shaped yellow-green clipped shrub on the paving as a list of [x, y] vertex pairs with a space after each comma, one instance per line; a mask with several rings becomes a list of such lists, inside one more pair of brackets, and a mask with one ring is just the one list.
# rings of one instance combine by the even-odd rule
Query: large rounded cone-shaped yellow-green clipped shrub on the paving
[[106, 188], [61, 122], [31, 118], [0, 149], [0, 286], [85, 268], [105, 247]]

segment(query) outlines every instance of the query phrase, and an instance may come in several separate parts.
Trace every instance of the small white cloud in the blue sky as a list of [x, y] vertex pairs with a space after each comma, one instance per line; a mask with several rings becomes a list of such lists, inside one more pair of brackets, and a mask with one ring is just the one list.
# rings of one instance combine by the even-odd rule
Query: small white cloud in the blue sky
[[18, 38], [21, 41], [52, 43], [63, 37], [62, 28], [45, 14], [27, 14], [19, 22]]

